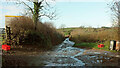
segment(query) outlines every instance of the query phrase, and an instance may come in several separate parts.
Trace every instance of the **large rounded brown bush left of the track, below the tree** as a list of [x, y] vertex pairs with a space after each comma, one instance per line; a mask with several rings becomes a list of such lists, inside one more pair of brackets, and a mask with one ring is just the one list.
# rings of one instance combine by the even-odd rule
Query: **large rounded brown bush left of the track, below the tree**
[[[63, 41], [62, 34], [58, 33], [51, 23], [38, 22], [37, 29], [29, 17], [13, 18], [10, 21], [12, 38], [21, 45], [37, 45], [41, 48], [50, 48]], [[12, 39], [12, 40], [14, 40]]]

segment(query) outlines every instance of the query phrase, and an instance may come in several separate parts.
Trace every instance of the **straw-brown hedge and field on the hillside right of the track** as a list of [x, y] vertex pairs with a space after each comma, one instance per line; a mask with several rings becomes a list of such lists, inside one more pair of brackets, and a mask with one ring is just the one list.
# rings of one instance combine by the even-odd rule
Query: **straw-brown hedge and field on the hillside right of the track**
[[97, 42], [107, 40], [117, 40], [116, 28], [64, 28], [58, 29], [64, 35], [69, 35], [75, 42]]

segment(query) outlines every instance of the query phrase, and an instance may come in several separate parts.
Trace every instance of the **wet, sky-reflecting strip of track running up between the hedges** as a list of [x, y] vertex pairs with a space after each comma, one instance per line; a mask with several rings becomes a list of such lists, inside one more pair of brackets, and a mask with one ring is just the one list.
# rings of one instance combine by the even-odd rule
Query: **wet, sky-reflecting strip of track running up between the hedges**
[[84, 66], [81, 60], [75, 58], [83, 54], [84, 49], [72, 47], [74, 42], [64, 41], [56, 50], [52, 52], [52, 59], [46, 66]]

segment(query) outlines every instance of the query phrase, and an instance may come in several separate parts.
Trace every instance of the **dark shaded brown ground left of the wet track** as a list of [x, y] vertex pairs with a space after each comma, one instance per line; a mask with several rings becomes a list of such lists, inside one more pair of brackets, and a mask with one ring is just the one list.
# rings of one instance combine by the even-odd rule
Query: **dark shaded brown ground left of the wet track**
[[[43, 66], [44, 64], [40, 60], [46, 60], [47, 57], [43, 58], [44, 52], [47, 50], [32, 46], [11, 46], [10, 51], [2, 50], [2, 67]], [[35, 61], [38, 61], [39, 64], [36, 65]]]

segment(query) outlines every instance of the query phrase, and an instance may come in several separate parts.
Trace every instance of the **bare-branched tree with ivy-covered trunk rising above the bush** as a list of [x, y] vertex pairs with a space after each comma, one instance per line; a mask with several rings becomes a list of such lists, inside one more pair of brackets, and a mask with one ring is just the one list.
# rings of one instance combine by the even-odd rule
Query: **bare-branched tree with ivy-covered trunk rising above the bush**
[[[26, 1], [26, 2], [25, 2]], [[30, 12], [32, 13], [33, 22], [35, 24], [35, 30], [39, 19], [43, 16], [48, 17], [49, 19], [54, 19], [56, 17], [56, 10], [52, 10], [53, 7], [50, 5], [48, 0], [17, 0], [17, 4], [25, 5]], [[49, 0], [50, 1], [50, 0]], [[52, 2], [55, 0], [51, 0]], [[29, 3], [32, 3], [32, 6]]]

